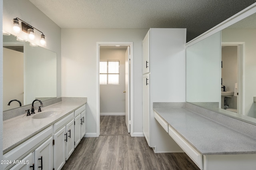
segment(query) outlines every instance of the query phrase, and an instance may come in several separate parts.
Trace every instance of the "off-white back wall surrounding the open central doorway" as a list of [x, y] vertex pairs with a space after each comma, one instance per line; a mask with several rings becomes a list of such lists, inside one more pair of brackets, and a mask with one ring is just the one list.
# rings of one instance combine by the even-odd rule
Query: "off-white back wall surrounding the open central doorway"
[[88, 97], [86, 131], [96, 134], [96, 42], [133, 42], [134, 132], [142, 132], [142, 40], [148, 29], [62, 29], [62, 96]]

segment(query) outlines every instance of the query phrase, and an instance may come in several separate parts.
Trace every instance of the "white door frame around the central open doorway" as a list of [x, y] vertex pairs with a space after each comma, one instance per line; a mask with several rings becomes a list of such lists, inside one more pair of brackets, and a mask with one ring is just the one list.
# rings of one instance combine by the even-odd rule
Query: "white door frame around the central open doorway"
[[133, 136], [133, 42], [96, 42], [96, 136], [100, 136], [100, 46], [130, 46], [130, 134]]

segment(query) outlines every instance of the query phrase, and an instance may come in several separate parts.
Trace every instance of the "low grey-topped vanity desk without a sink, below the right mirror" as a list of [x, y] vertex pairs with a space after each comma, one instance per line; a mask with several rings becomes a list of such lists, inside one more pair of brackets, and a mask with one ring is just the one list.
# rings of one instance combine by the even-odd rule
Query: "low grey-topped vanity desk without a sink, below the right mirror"
[[154, 117], [201, 170], [255, 169], [254, 125], [189, 103], [154, 103]]

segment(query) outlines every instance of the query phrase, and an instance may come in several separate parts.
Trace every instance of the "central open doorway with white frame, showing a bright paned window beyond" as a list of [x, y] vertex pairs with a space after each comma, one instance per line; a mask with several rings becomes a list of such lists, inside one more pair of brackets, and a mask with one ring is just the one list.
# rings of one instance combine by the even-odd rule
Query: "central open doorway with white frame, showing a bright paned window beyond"
[[[119, 50], [124, 53], [123, 59], [113, 55]], [[127, 53], [128, 52], [128, 53]], [[104, 53], [101, 55], [101, 53]], [[109, 55], [109, 53], [112, 53]], [[124, 64], [125, 63], [125, 64]], [[129, 65], [127, 65], [129, 63]], [[109, 69], [112, 65], [120, 67], [120, 73]], [[114, 67], [116, 67], [114, 66]], [[98, 42], [97, 43], [97, 95], [96, 100], [96, 133], [100, 135], [100, 115], [125, 115], [128, 132], [133, 133], [133, 100], [132, 100], [132, 42]], [[115, 68], [113, 69], [115, 70]], [[125, 67], [125, 70], [124, 70]], [[106, 70], [106, 71], [102, 71]], [[106, 68], [106, 69], [104, 69]], [[122, 72], [122, 73], [121, 73]], [[116, 77], [116, 78], [114, 78]], [[127, 78], [129, 77], [128, 81]], [[120, 80], [120, 81], [119, 81]], [[106, 98], [107, 97], [107, 98]], [[107, 101], [106, 101], [107, 100]], [[123, 103], [122, 103], [123, 102]]]

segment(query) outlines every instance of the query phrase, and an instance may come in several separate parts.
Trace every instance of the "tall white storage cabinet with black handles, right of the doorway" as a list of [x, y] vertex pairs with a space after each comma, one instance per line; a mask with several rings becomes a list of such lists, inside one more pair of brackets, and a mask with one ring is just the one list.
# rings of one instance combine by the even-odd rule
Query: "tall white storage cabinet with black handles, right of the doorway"
[[143, 40], [143, 133], [155, 152], [182, 149], [154, 119], [154, 102], [185, 102], [185, 28], [150, 28]]

